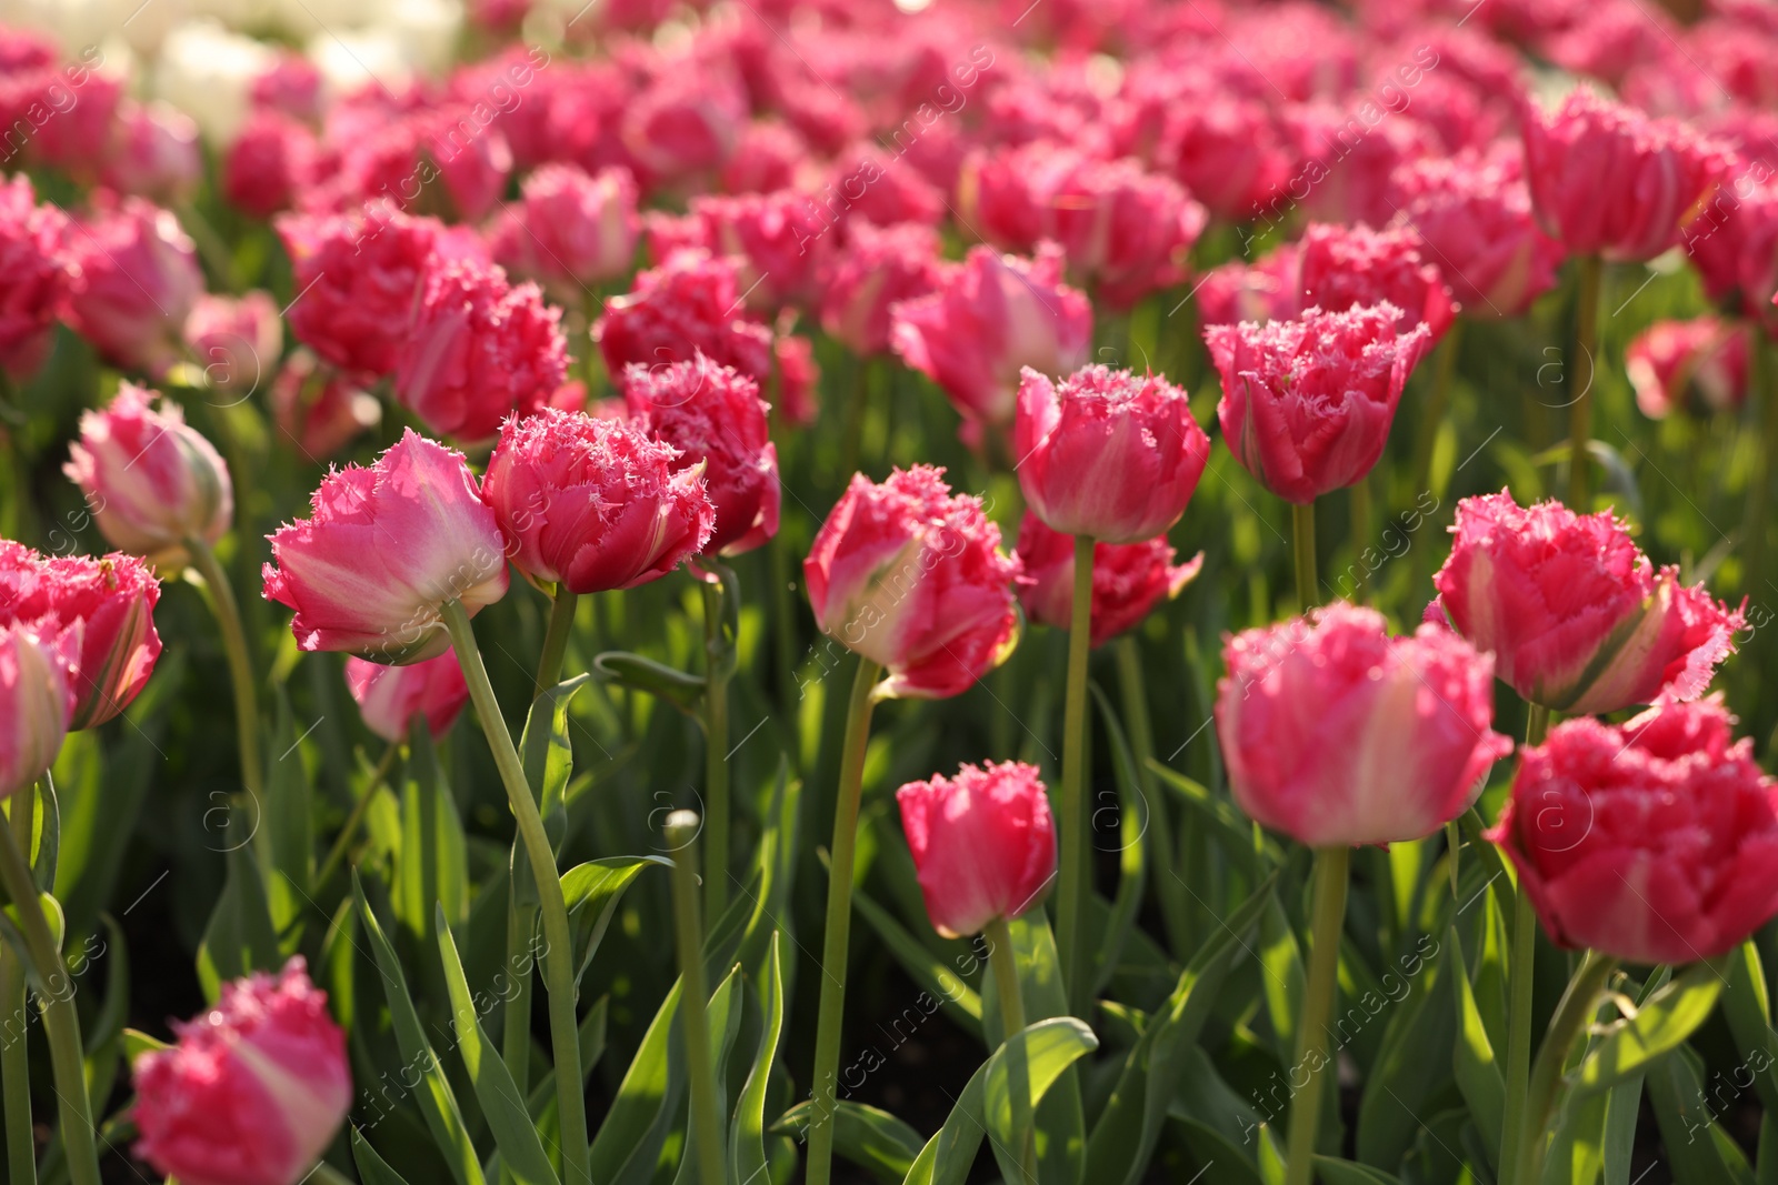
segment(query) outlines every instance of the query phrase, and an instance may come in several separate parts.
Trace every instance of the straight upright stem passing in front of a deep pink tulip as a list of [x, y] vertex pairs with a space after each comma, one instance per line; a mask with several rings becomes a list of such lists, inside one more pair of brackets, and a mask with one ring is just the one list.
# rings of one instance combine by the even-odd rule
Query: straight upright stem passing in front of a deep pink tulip
[[1081, 915], [1092, 892], [1086, 862], [1086, 664], [1093, 641], [1093, 537], [1074, 537], [1074, 600], [1069, 606], [1069, 686], [1061, 707], [1061, 872], [1056, 885], [1056, 950], [1061, 991], [1076, 1016], [1086, 1011], [1086, 945]]

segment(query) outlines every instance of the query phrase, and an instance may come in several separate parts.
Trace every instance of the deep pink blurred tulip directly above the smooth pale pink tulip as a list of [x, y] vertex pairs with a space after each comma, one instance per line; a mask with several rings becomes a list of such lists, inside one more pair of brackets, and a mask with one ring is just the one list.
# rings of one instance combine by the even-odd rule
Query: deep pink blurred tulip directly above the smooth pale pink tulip
[[439, 435], [485, 441], [528, 416], [567, 378], [560, 309], [500, 266], [436, 263], [395, 355], [395, 398]]

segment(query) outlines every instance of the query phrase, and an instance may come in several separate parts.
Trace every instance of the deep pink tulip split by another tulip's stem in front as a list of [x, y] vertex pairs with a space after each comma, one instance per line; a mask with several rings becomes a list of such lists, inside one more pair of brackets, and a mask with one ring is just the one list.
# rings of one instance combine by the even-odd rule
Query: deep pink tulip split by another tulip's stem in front
[[[1044, 526], [1035, 513], [1019, 524], [1013, 553], [1024, 572], [1019, 602], [1033, 622], [1070, 629], [1074, 618], [1074, 540]], [[1204, 567], [1204, 553], [1173, 563], [1165, 538], [1140, 544], [1093, 544], [1092, 645], [1102, 647], [1134, 629], [1161, 600], [1170, 600]]]

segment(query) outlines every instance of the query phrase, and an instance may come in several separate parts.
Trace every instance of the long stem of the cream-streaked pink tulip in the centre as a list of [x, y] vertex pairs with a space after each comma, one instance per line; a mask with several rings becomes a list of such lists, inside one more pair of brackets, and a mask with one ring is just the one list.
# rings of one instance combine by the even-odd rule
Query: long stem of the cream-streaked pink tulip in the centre
[[821, 938], [821, 1004], [814, 1022], [814, 1112], [809, 1119], [805, 1185], [829, 1185], [834, 1174], [834, 1107], [839, 1038], [846, 1014], [846, 947], [852, 942], [852, 865], [864, 791], [864, 748], [871, 739], [873, 691], [882, 666], [859, 656], [846, 705], [846, 739], [839, 753], [839, 794], [834, 799], [834, 846], [829, 849], [827, 933]]

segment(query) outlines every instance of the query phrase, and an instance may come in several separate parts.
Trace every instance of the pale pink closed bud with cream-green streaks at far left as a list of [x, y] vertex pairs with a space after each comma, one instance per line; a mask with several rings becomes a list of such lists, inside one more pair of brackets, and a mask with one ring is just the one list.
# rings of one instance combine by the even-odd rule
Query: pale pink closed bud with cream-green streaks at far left
[[149, 563], [185, 565], [185, 540], [215, 544], [235, 517], [228, 465], [185, 412], [155, 393], [123, 384], [117, 398], [80, 418], [62, 473], [87, 496], [112, 547]]

